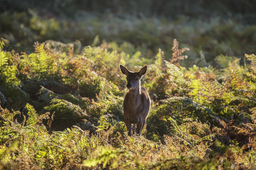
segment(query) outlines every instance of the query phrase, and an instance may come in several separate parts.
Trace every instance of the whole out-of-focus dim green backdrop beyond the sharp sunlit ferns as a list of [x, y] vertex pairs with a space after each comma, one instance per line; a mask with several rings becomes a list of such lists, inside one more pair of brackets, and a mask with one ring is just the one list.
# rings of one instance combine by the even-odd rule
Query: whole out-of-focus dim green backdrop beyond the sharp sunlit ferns
[[181, 66], [214, 65], [217, 60], [256, 53], [254, 0], [0, 0], [0, 37], [16, 52], [31, 53], [46, 40], [99, 46], [154, 62], [161, 48], [172, 58], [173, 39], [188, 47]]

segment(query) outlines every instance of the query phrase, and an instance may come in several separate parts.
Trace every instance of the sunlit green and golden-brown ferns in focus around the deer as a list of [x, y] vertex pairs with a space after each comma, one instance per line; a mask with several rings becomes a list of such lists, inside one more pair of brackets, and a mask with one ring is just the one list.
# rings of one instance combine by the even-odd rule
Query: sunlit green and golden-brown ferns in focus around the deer
[[189, 49], [178, 45], [171, 60], [159, 48], [148, 65], [147, 126], [128, 137], [119, 64], [132, 66], [129, 54], [106, 42], [76, 53], [56, 41], [16, 53], [2, 38], [0, 169], [256, 168], [256, 56], [185, 68]]

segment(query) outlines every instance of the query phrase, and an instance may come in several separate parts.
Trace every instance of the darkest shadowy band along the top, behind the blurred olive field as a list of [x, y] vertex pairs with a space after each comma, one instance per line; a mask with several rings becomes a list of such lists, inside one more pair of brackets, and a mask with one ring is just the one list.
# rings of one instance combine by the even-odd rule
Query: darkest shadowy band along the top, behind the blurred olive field
[[160, 16], [168, 19], [177, 19], [180, 15], [189, 17], [210, 17], [236, 16], [245, 23], [255, 23], [256, 1], [253, 0], [5, 0], [2, 1], [1, 11], [26, 11], [27, 8], [37, 9], [41, 13], [51, 11], [55, 14], [74, 17], [77, 11], [89, 11], [102, 13], [115, 13], [120, 15], [138, 15], [138, 16]]

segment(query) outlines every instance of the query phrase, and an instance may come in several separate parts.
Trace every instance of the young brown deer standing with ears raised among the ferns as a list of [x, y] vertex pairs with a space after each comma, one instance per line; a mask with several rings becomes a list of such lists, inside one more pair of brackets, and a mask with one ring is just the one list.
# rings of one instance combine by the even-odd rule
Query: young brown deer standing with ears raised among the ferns
[[150, 110], [150, 97], [145, 88], [140, 87], [140, 79], [147, 72], [147, 66], [144, 66], [139, 72], [132, 72], [120, 65], [121, 72], [127, 76], [127, 85], [129, 89], [124, 98], [124, 117], [128, 129], [128, 135], [141, 135], [141, 131], [146, 123], [148, 112]]

